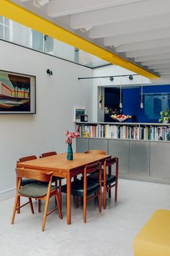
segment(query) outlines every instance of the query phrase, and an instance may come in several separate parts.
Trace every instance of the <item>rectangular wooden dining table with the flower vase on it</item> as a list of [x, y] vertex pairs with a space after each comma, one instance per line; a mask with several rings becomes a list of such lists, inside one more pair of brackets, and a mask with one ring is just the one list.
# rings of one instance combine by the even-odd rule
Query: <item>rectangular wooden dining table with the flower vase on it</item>
[[96, 161], [100, 161], [103, 164], [104, 160], [110, 157], [111, 155], [73, 153], [73, 160], [68, 161], [66, 153], [61, 153], [46, 158], [37, 158], [35, 160], [17, 163], [17, 168], [29, 168], [44, 173], [53, 171], [53, 176], [66, 178], [67, 223], [69, 225], [71, 224], [71, 179], [78, 174], [82, 174], [87, 164]]

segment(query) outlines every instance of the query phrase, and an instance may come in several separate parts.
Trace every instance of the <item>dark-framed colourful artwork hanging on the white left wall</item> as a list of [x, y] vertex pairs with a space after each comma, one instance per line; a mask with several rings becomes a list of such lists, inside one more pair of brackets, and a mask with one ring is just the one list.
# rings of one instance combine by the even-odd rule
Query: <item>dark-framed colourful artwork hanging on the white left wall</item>
[[0, 70], [0, 114], [36, 114], [36, 77]]

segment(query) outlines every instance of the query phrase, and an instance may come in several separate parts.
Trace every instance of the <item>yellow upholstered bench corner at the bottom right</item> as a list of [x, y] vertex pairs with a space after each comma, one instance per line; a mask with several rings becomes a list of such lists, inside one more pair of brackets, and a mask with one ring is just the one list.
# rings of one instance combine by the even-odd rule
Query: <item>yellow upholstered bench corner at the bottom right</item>
[[135, 256], [170, 256], [170, 210], [156, 210], [133, 241]]

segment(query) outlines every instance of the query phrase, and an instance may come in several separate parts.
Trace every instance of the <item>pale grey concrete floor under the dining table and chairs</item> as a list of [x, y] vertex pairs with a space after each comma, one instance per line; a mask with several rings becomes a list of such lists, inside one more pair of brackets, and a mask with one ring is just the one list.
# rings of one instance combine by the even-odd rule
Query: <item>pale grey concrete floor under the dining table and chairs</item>
[[[0, 255], [133, 256], [133, 239], [148, 218], [158, 208], [170, 210], [170, 186], [120, 179], [117, 203], [112, 191], [102, 213], [98, 212], [97, 202], [88, 203], [86, 224], [82, 207], [76, 209], [72, 203], [70, 226], [66, 224], [63, 194], [63, 220], [58, 213], [52, 213], [47, 218], [45, 232], [41, 231], [42, 213], [37, 213], [35, 200], [35, 214], [25, 206], [14, 225], [11, 225], [14, 198], [0, 202]], [[52, 198], [50, 208], [54, 205]]]

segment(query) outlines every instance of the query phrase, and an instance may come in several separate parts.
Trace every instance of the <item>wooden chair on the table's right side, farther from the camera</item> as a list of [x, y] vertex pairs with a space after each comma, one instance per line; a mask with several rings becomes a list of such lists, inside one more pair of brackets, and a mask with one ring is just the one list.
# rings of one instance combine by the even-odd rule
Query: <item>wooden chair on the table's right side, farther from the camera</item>
[[[117, 186], [118, 186], [118, 162], [117, 157], [108, 158], [104, 161], [104, 172], [102, 174], [102, 186], [103, 186], [103, 208], [106, 208], [106, 195], [109, 192], [109, 197], [111, 197], [111, 189], [115, 187], [115, 202], [117, 201]], [[111, 174], [112, 166], [115, 165], [115, 175]], [[107, 169], [109, 172], [107, 174]], [[93, 182], [99, 182], [99, 174], [91, 174], [88, 179]]]

